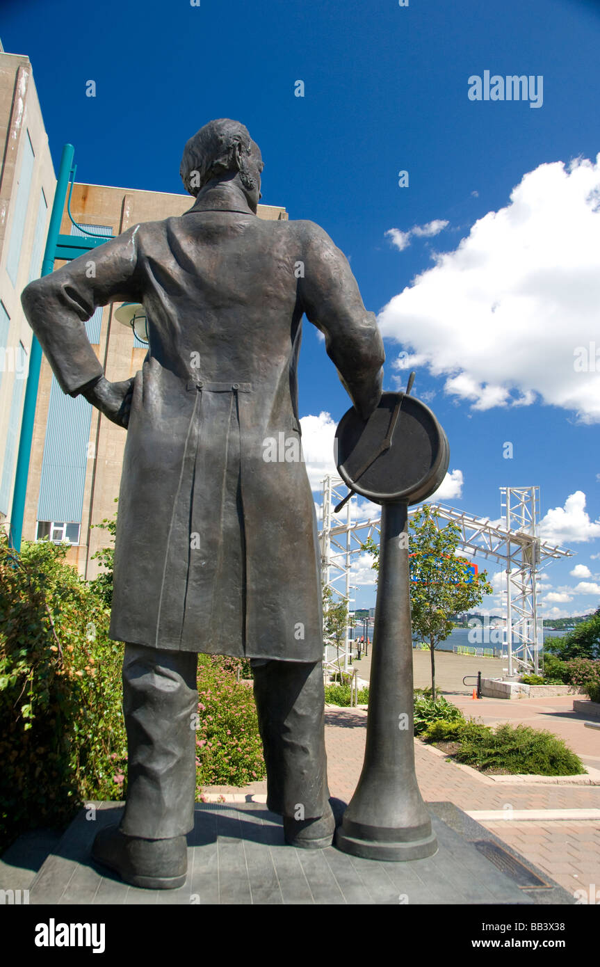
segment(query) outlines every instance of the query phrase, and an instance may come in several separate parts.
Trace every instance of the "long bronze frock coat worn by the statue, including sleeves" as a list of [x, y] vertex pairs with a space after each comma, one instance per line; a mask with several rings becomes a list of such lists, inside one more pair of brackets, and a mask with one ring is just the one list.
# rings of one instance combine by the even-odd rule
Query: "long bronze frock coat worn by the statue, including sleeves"
[[317, 523], [298, 458], [302, 313], [359, 412], [384, 362], [346, 258], [311, 221], [192, 209], [136, 225], [23, 293], [65, 393], [102, 374], [83, 323], [117, 300], [144, 304], [150, 347], [131, 402], [111, 636], [320, 659]]

